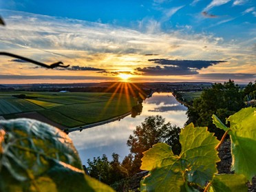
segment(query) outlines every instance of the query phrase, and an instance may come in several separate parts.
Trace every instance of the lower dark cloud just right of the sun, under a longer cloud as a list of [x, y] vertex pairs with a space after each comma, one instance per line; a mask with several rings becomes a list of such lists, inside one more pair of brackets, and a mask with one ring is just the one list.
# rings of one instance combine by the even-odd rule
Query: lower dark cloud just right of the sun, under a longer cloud
[[189, 67], [159, 66], [156, 67], [137, 67], [136, 72], [140, 72], [147, 76], [182, 76], [198, 74], [197, 71], [189, 69]]

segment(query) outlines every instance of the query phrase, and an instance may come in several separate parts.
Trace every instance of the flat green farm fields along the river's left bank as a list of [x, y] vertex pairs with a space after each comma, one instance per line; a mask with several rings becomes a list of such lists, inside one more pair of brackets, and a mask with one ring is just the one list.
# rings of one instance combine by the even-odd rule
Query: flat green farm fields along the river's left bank
[[0, 92], [0, 116], [45, 117], [61, 127], [79, 127], [131, 111], [136, 98], [89, 92]]

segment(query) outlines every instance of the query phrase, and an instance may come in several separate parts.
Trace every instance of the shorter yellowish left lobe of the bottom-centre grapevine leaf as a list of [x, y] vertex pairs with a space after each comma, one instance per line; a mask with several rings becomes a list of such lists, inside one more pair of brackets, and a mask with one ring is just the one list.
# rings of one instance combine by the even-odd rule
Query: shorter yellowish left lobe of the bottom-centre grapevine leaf
[[144, 152], [140, 169], [150, 171], [141, 183], [141, 191], [180, 191], [184, 185], [181, 164], [165, 143], [153, 145]]

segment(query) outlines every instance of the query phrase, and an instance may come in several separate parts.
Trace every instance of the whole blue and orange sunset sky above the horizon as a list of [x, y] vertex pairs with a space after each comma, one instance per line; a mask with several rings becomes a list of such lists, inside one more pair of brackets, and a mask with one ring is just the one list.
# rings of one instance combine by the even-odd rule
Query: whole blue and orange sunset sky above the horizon
[[0, 0], [0, 84], [256, 79], [255, 0]]

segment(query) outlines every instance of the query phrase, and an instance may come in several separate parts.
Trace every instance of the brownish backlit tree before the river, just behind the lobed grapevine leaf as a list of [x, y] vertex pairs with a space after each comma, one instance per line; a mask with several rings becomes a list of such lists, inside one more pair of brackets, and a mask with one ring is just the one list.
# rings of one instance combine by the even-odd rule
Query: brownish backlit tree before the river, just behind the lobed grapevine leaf
[[125, 161], [131, 162], [131, 173], [140, 171], [142, 152], [158, 142], [165, 142], [173, 146], [174, 153], [180, 153], [179, 134], [180, 128], [172, 126], [170, 122], [164, 123], [162, 116], [147, 117], [142, 125], [136, 127], [134, 135], [130, 135], [127, 140], [131, 155], [126, 157]]

